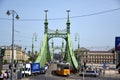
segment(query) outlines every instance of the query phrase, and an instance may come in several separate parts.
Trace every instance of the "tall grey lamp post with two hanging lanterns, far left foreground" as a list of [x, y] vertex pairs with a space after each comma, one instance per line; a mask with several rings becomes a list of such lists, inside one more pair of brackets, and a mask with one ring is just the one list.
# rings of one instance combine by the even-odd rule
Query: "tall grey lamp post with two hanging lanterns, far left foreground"
[[12, 59], [11, 59], [11, 80], [13, 80], [13, 64], [14, 64], [14, 17], [16, 15], [16, 19], [19, 19], [18, 14], [14, 10], [8, 10], [6, 13], [8, 16], [12, 15]]

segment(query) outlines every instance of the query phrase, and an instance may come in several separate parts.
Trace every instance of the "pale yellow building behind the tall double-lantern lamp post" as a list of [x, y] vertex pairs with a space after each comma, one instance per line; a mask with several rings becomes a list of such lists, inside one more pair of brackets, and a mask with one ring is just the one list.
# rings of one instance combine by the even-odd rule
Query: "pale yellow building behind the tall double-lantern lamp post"
[[[11, 46], [2, 46], [5, 48], [5, 54], [3, 57], [3, 61], [7, 61], [10, 63], [12, 60], [12, 47]], [[14, 61], [26, 61], [28, 60], [28, 56], [25, 53], [25, 50], [22, 47], [15, 45], [14, 47]]]

